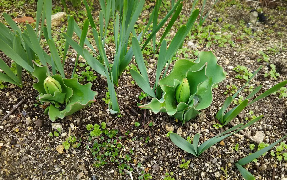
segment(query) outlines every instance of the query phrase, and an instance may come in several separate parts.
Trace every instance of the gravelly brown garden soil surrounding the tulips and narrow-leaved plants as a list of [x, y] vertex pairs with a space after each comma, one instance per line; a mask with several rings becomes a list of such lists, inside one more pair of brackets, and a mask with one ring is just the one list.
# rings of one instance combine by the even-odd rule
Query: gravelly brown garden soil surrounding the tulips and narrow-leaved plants
[[[88, 1], [89, 4], [91, 2]], [[131, 173], [133, 179], [138, 179], [141, 171], [144, 171], [146, 177], [151, 176], [152, 179], [163, 179], [164, 177], [182, 180], [243, 179], [234, 162], [257, 150], [257, 144], [246, 136], [236, 133], [195, 158], [175, 146], [166, 137], [166, 134], [169, 130], [173, 130], [184, 138], [190, 136], [192, 139], [196, 133], [200, 133], [200, 143], [220, 134], [220, 128], [213, 127], [216, 124], [214, 116], [222, 106], [224, 99], [228, 95], [232, 95], [232, 91], [236, 91], [232, 87], [236, 86], [239, 89], [246, 82], [246, 80], [236, 77], [238, 72], [233, 69], [237, 65], [246, 66], [251, 73], [259, 66], [264, 66], [249, 83], [250, 85], [245, 88], [247, 91], [241, 93], [243, 97], [249, 94], [251, 86], [257, 87], [262, 84], [262, 89], [267, 90], [287, 79], [287, 2], [284, 0], [277, 0], [271, 4], [268, 4], [267, 1], [263, 2], [265, 3], [239, 0], [219, 1], [203, 26], [198, 26], [199, 18], [197, 19], [197, 24], [187, 36], [183, 49], [177, 53], [176, 57], [195, 59], [198, 51], [212, 48], [218, 58], [218, 64], [227, 73], [227, 78], [213, 90], [211, 106], [202, 110], [199, 116], [183, 126], [165, 113], [153, 114], [149, 110], [145, 111], [137, 107], [137, 103], [144, 103], [145, 99], [139, 100], [138, 95], [141, 93], [141, 89], [133, 82], [128, 70], [120, 77], [119, 87], [115, 88], [121, 115], [110, 114], [108, 111], [108, 105], [102, 100], [106, 97], [107, 82], [104, 77], [94, 72], [97, 78], [92, 81], [92, 89], [98, 92], [96, 102], [71, 116], [54, 122], [58, 124], [53, 124], [49, 117], [43, 114], [47, 104], [40, 104], [36, 100], [38, 92], [32, 88], [34, 82], [27, 73], [23, 75], [23, 89], [3, 83], [4, 87], [0, 91], [1, 119], [4, 119], [4, 116], [15, 105], [20, 105], [14, 109], [11, 115], [0, 121], [0, 179], [130, 179], [131, 176], [126, 171], [119, 172], [117, 163], [107, 161], [107, 164], [102, 167], [93, 166], [96, 161], [84, 144], [89, 143], [89, 131], [86, 129], [86, 125], [101, 124], [101, 122], [106, 122], [108, 129], [119, 130], [117, 139], [123, 145], [122, 148], [119, 148], [119, 154], [121, 156], [129, 154], [131, 159], [124, 163], [133, 168]], [[208, 1], [207, 4], [203, 14], [212, 7], [211, 2]], [[82, 27], [82, 22], [86, 18], [84, 5], [73, 7], [69, 1], [67, 5], [69, 10], [66, 13], [74, 15], [77, 23]], [[154, 1], [146, 1], [145, 9], [139, 18], [141, 20], [137, 21], [138, 32], [145, 27], [147, 23], [145, 18], [154, 5]], [[202, 4], [197, 4], [197, 7], [201, 8], [201, 6]], [[95, 1], [91, 7], [93, 7], [93, 16], [97, 19], [100, 10], [98, 1]], [[168, 35], [168, 39], [172, 39], [179, 27], [187, 21], [191, 7], [190, 1], [184, 1], [182, 14]], [[162, 8], [161, 18], [166, 14], [166, 9], [170, 8], [170, 2], [164, 0]], [[255, 8], [265, 14], [266, 21], [249, 23], [250, 11]], [[24, 16], [35, 18], [35, 11], [36, 2], [34, 1], [0, 1], [1, 14], [6, 12], [12, 18]], [[60, 1], [53, 1], [53, 13], [61, 11], [63, 12], [64, 8]], [[6, 23], [2, 15], [0, 15], [0, 21]], [[18, 24], [24, 28], [24, 24]], [[65, 31], [66, 27], [66, 16], [61, 19], [60, 24], [53, 27], [53, 37], [58, 42], [58, 49], [62, 51], [65, 41], [60, 32]], [[158, 34], [160, 33], [163, 31], [158, 32]], [[109, 34], [113, 36], [112, 31]], [[158, 35], [158, 37], [160, 36]], [[92, 36], [89, 38], [93, 39]], [[93, 40], [91, 42], [94, 44]], [[47, 49], [44, 40], [42, 45], [44, 49]], [[113, 43], [107, 43], [107, 46], [110, 51], [107, 51], [108, 58], [112, 62]], [[259, 51], [262, 51], [264, 55]], [[70, 48], [65, 63], [67, 77], [72, 72], [73, 60], [76, 56], [76, 52]], [[144, 56], [153, 84], [157, 56], [153, 55], [152, 48], [149, 47], [144, 52]], [[268, 62], [263, 60], [264, 56]], [[0, 57], [7, 64], [11, 64], [11, 60], [2, 52], [0, 52]], [[258, 58], [262, 60], [258, 62]], [[83, 59], [81, 62], [84, 64]], [[135, 64], [134, 59], [132, 63]], [[274, 64], [275, 71], [279, 73], [276, 80], [270, 75], [264, 77], [265, 73], [272, 70], [270, 64]], [[169, 68], [172, 69], [172, 64]], [[77, 73], [81, 75], [81, 71], [85, 71], [85, 67], [79, 67]], [[86, 82], [84, 78], [83, 83]], [[228, 88], [227, 85], [230, 87]], [[233, 122], [235, 124], [247, 123], [252, 116], [264, 114], [259, 122], [246, 129], [245, 132], [255, 136], [257, 131], [261, 131], [263, 134], [260, 138], [263, 138], [264, 143], [275, 142], [287, 133], [287, 99], [286, 97], [279, 99], [279, 96], [279, 93], [272, 94], [257, 101], [234, 118]], [[147, 98], [147, 101], [150, 99]], [[135, 126], [136, 122], [139, 122], [140, 125]], [[61, 128], [60, 132], [57, 127]], [[227, 124], [223, 129], [230, 127], [232, 126]], [[49, 136], [49, 133], [53, 134], [54, 132], [58, 132], [59, 136]], [[62, 142], [69, 135], [75, 136], [77, 140], [82, 138], [84, 143], [78, 148], [71, 146], [68, 150], [61, 149]], [[239, 145], [237, 148], [236, 144]], [[251, 150], [250, 144], [255, 144], [253, 150]], [[275, 149], [276, 146], [273, 150], [275, 151]], [[133, 150], [133, 153], [130, 150]], [[186, 163], [180, 168], [183, 161], [190, 163]], [[270, 155], [270, 151], [265, 156], [257, 158], [257, 162], [251, 162], [244, 167], [257, 179], [286, 180], [287, 178], [287, 161], [284, 159], [279, 161], [276, 156]], [[165, 175], [166, 172], [173, 173]]]

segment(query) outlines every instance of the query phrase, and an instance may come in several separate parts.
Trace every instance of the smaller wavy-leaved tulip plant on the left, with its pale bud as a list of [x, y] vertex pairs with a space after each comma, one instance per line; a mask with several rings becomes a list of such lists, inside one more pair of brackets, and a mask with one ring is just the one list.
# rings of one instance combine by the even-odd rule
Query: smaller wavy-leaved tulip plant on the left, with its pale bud
[[44, 114], [48, 114], [53, 122], [96, 101], [98, 93], [92, 91], [92, 83], [82, 85], [77, 78], [64, 79], [60, 74], [51, 76], [47, 66], [39, 66], [36, 62], [32, 75], [38, 79], [33, 88], [39, 92], [39, 101], [51, 103]]

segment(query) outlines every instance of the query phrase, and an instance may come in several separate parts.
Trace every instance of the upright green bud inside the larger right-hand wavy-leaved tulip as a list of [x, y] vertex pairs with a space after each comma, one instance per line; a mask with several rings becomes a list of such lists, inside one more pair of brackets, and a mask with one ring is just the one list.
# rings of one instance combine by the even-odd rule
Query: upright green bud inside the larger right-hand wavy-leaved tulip
[[175, 91], [175, 99], [177, 102], [188, 103], [190, 97], [190, 86], [186, 78], [184, 78]]

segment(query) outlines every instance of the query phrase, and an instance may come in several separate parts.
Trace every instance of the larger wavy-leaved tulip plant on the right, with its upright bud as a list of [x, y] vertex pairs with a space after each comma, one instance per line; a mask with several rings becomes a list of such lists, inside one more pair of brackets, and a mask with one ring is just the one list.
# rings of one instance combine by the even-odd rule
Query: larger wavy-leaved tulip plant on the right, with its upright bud
[[210, 106], [212, 89], [225, 78], [212, 51], [201, 51], [195, 62], [177, 60], [172, 72], [158, 82], [163, 91], [162, 98], [153, 98], [139, 107], [155, 114], [166, 112], [184, 124], [200, 114], [199, 110]]

